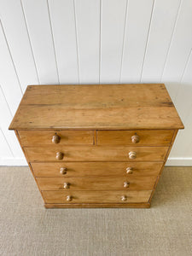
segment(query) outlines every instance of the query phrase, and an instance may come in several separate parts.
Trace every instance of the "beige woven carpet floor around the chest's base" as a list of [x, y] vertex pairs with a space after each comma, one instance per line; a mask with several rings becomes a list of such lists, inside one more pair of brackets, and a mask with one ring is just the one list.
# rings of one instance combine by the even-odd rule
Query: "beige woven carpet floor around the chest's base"
[[150, 209], [44, 209], [27, 167], [0, 168], [0, 255], [192, 255], [192, 167], [166, 167]]

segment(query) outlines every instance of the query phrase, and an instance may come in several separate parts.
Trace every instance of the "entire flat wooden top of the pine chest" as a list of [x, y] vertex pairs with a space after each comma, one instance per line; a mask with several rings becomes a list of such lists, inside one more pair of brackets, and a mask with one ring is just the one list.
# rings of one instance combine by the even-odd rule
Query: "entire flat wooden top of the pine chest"
[[183, 129], [164, 84], [29, 85], [9, 130]]

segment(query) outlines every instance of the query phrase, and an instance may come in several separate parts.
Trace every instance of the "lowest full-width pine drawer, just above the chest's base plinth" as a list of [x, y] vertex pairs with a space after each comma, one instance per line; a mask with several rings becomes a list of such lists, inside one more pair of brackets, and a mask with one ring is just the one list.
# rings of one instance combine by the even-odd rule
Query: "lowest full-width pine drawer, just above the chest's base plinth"
[[[152, 190], [130, 191], [42, 191], [45, 203], [148, 202]], [[69, 201], [70, 200], [70, 201]], [[125, 201], [122, 201], [125, 200]]]

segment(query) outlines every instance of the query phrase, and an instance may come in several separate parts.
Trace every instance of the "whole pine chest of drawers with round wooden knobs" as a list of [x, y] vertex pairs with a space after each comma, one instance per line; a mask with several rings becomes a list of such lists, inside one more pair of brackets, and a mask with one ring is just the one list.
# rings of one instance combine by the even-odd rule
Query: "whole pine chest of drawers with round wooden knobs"
[[29, 85], [9, 129], [45, 207], [150, 207], [183, 123], [164, 84]]

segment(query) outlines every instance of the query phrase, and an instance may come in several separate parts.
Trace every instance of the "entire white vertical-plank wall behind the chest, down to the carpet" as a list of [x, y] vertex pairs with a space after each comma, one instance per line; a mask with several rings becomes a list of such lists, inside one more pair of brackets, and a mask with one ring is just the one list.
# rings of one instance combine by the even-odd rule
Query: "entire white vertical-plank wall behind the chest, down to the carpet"
[[192, 0], [0, 0], [0, 165], [26, 165], [26, 85], [105, 83], [165, 83], [185, 125], [167, 165], [192, 166]]

